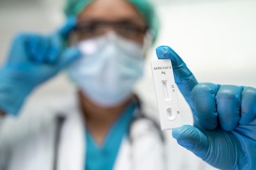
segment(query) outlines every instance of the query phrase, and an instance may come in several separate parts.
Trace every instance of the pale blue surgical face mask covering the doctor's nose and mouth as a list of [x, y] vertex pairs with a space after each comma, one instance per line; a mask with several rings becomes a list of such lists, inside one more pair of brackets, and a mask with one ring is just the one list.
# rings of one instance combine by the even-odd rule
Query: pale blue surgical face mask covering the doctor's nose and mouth
[[110, 32], [84, 40], [78, 47], [83, 56], [68, 72], [84, 95], [104, 107], [125, 102], [143, 75], [143, 46]]

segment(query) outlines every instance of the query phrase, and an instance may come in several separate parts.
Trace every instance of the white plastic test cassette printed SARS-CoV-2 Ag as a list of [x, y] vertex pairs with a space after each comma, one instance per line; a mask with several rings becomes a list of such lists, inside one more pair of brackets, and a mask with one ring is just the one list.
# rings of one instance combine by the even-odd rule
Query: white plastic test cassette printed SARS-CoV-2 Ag
[[162, 130], [182, 126], [180, 105], [170, 59], [151, 61], [151, 71]]

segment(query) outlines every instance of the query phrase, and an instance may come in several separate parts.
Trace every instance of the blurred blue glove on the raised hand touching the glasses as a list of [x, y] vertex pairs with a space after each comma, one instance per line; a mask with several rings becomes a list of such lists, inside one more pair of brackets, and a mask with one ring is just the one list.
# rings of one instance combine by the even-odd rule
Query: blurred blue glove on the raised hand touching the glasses
[[80, 56], [78, 49], [63, 46], [75, 25], [76, 18], [70, 17], [52, 35], [25, 33], [14, 39], [7, 62], [0, 69], [0, 110], [17, 115], [33, 88]]

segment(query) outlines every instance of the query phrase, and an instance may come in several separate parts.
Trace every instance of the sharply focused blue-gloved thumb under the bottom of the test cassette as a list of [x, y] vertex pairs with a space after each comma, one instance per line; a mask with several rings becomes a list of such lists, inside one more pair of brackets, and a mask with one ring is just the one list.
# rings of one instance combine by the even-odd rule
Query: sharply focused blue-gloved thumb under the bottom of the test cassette
[[197, 128], [184, 125], [173, 129], [173, 137], [177, 139], [177, 143], [190, 150], [197, 156], [203, 156], [208, 145], [207, 137]]

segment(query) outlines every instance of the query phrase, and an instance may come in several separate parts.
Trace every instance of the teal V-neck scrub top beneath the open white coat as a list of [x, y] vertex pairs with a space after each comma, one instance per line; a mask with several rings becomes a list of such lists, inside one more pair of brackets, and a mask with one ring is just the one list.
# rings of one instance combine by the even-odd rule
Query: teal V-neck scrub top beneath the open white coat
[[129, 125], [136, 108], [131, 104], [110, 128], [103, 144], [99, 146], [90, 132], [85, 131], [86, 159], [85, 170], [112, 170], [121, 141], [128, 134]]

